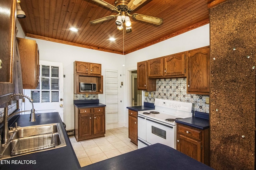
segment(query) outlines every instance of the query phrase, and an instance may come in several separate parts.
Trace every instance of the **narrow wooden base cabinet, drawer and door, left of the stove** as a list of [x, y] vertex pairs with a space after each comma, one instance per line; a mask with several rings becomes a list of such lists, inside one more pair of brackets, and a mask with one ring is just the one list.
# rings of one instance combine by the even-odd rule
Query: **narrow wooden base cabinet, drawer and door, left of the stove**
[[137, 125], [137, 111], [128, 110], [129, 113], [129, 127], [128, 127], [128, 137], [131, 139], [131, 142], [135, 145], [138, 145], [138, 125]]

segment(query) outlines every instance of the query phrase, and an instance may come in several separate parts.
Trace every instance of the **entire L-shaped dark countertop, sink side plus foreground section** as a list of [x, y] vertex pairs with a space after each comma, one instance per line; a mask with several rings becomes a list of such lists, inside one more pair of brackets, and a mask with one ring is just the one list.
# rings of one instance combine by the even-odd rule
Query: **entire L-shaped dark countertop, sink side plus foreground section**
[[[40, 116], [36, 116], [35, 122], [29, 121], [29, 114], [20, 115], [16, 122], [21, 127], [61, 123], [67, 146], [5, 159], [10, 160], [10, 163], [0, 161], [1, 170], [213, 170], [209, 166], [159, 143], [80, 168], [59, 114], [54, 112], [36, 115]], [[20, 160], [20, 162], [12, 163], [14, 160]], [[35, 162], [24, 163], [31, 161]]]

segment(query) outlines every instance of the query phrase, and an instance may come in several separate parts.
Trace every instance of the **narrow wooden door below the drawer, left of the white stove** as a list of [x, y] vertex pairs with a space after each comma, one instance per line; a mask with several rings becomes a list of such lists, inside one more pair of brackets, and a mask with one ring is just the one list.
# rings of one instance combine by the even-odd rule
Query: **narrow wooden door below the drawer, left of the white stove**
[[128, 137], [131, 139], [133, 143], [137, 145], [138, 143], [138, 125], [137, 125], [137, 118], [133, 116], [128, 116], [129, 119], [129, 128], [128, 128]]

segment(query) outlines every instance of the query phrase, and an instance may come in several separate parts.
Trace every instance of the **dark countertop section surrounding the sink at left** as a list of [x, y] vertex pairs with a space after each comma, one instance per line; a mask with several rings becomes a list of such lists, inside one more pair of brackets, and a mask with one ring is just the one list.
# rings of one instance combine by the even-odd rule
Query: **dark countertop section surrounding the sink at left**
[[[37, 116], [40, 115], [40, 116]], [[42, 125], [48, 123], [60, 123], [64, 138], [66, 141], [65, 147], [60, 147], [58, 149], [46, 150], [42, 152], [35, 152], [31, 154], [26, 154], [23, 156], [16, 156], [13, 158], [4, 159], [10, 160], [10, 164], [7, 163], [0, 163], [1, 170], [11, 170], [11, 169], [18, 169], [18, 170], [76, 170], [80, 168], [80, 164], [76, 158], [76, 154], [72, 148], [70, 140], [68, 138], [68, 134], [62, 124], [60, 116], [58, 112], [53, 113], [40, 113], [36, 114], [36, 121], [30, 122], [29, 121], [30, 114], [20, 115], [15, 122], [18, 123], [18, 126], [32, 126], [32, 125]], [[12, 125], [13, 126], [13, 125]], [[14, 126], [15, 127], [15, 126]], [[19, 163], [12, 163], [14, 160], [35, 160], [36, 164], [24, 164], [24, 162]]]

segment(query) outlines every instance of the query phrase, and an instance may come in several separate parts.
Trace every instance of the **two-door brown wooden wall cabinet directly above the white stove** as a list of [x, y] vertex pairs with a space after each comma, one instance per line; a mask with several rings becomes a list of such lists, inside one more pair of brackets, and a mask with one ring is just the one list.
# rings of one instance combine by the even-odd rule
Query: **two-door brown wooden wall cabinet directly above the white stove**
[[186, 52], [148, 60], [150, 78], [186, 77]]

